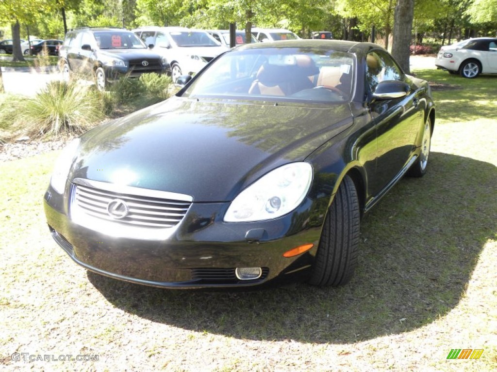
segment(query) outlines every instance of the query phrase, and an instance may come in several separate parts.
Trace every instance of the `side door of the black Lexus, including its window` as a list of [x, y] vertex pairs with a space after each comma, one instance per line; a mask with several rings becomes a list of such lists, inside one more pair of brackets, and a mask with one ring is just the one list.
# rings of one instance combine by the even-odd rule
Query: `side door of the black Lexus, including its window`
[[[376, 172], [371, 185], [376, 194], [389, 186], [412, 160], [423, 125], [423, 111], [418, 98], [420, 92], [389, 54], [373, 50], [366, 62], [369, 109], [377, 135]], [[378, 83], [385, 80], [404, 81], [411, 86], [411, 91], [396, 99], [372, 98]]]

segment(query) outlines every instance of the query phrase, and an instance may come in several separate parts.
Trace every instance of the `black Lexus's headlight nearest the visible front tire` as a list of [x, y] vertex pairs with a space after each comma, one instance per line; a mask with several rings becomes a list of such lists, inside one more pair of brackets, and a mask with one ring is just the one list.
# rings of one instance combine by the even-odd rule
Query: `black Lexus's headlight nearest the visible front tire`
[[312, 176], [309, 163], [291, 163], [276, 168], [238, 194], [226, 211], [224, 220], [247, 222], [283, 216], [304, 200]]

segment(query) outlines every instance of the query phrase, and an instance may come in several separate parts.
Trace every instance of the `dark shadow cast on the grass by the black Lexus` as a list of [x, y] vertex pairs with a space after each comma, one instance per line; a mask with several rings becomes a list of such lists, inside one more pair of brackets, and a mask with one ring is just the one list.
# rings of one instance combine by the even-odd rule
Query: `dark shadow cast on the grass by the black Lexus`
[[497, 168], [432, 153], [361, 226], [360, 261], [340, 288], [305, 283], [251, 292], [173, 291], [88, 272], [114, 306], [175, 327], [252, 340], [351, 343], [402, 333], [456, 307], [497, 230]]

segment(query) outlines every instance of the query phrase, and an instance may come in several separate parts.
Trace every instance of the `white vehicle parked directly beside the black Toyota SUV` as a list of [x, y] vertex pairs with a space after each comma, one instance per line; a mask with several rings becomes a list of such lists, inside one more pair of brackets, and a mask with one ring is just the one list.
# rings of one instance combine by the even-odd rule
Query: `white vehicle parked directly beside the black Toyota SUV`
[[133, 32], [166, 58], [172, 81], [182, 74], [197, 73], [209, 61], [228, 50], [203, 30], [149, 26], [137, 28]]

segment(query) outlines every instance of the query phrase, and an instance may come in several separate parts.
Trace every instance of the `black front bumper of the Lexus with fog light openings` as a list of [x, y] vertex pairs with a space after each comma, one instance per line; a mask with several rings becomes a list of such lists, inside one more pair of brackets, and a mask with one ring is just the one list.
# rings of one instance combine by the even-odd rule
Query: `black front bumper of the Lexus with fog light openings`
[[[314, 262], [328, 198], [306, 199], [293, 213], [264, 222], [226, 223], [229, 203], [193, 203], [164, 240], [112, 237], [75, 224], [68, 198], [51, 186], [44, 207], [54, 240], [88, 270], [165, 288], [247, 287], [306, 278]], [[289, 249], [314, 244], [305, 253]], [[236, 268], [260, 267], [260, 278], [241, 280]]]

